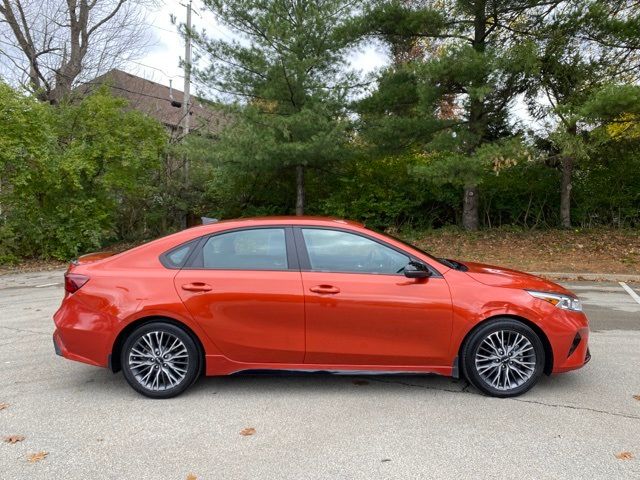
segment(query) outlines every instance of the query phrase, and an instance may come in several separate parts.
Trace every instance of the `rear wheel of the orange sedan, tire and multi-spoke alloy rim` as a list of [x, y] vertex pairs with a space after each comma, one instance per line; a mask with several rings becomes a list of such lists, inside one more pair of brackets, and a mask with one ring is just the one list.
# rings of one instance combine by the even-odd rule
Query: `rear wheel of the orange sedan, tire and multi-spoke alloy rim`
[[[147, 356], [136, 355], [141, 351], [141, 346], [148, 345], [145, 342], [149, 338], [151, 338], [152, 343], [153, 338], [156, 340], [161, 338], [163, 341], [168, 339], [166, 350], [153, 352], [160, 353], [153, 360], [149, 360]], [[175, 342], [177, 342], [179, 348], [179, 359], [169, 357], [169, 347], [171, 343], [175, 344]], [[152, 346], [150, 345], [149, 347]], [[135, 350], [132, 352], [134, 348]], [[148, 350], [152, 350], [152, 348], [148, 348]], [[165, 352], [167, 360], [162, 359], [162, 353]], [[174, 350], [174, 352], [177, 351]], [[146, 350], [144, 353], [146, 353]], [[146, 364], [142, 367], [135, 366], [135, 364], [132, 365], [132, 362], [141, 363], [143, 361]], [[167, 363], [163, 363], [163, 361]], [[126, 378], [129, 385], [138, 393], [149, 398], [163, 399], [180, 395], [196, 382], [202, 371], [201, 355], [191, 335], [182, 328], [163, 321], [146, 323], [135, 329], [122, 346], [120, 362], [124, 378]], [[152, 368], [155, 369], [154, 372], [157, 372], [156, 376], [160, 377], [160, 380], [157, 381], [157, 384], [153, 382], [149, 386], [148, 382], [144, 381], [144, 377]], [[151, 372], [150, 375], [153, 376], [154, 372]], [[181, 377], [179, 381], [177, 381], [178, 377]]]

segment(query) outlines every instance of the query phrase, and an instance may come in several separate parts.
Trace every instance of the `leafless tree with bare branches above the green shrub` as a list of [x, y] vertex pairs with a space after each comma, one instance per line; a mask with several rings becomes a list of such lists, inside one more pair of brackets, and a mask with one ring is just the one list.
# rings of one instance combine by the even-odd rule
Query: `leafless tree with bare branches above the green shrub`
[[60, 102], [78, 83], [126, 63], [148, 46], [143, 7], [155, 1], [0, 0], [0, 35], [14, 47], [0, 52], [0, 60], [19, 63], [21, 57], [18, 71], [28, 72], [28, 79], [15, 78], [13, 66], [2, 70], [41, 100]]

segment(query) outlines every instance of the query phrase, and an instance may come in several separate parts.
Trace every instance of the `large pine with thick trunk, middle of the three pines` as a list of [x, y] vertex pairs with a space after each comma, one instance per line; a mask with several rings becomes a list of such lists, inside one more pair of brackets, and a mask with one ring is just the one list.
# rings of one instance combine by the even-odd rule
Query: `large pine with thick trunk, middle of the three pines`
[[503, 147], [518, 150], [510, 109], [539, 67], [528, 32], [561, 3], [371, 2], [359, 25], [392, 49], [412, 41], [426, 44], [424, 55], [384, 72], [379, 90], [360, 111], [365, 130], [375, 132], [371, 138], [384, 141], [385, 132], [397, 129], [396, 148], [429, 154], [433, 161], [425, 171], [462, 187], [462, 224], [468, 230], [479, 227], [479, 185], [493, 156], [487, 152], [497, 153], [490, 161], [495, 163]]

